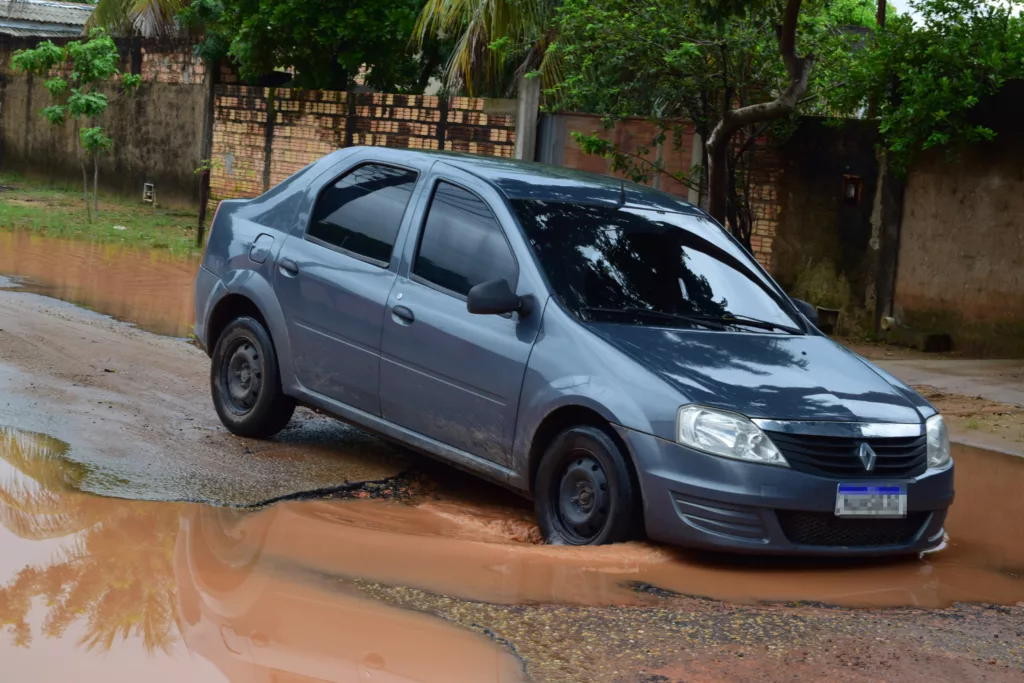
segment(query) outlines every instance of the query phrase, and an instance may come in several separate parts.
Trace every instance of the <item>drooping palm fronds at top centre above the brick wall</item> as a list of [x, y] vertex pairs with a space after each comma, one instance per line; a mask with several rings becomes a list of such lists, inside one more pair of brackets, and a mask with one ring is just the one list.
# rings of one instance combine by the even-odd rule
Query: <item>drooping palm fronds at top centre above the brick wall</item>
[[501, 93], [516, 77], [541, 69], [550, 82], [557, 66], [547, 58], [560, 0], [426, 0], [413, 42], [456, 37], [445, 85], [452, 92]]

